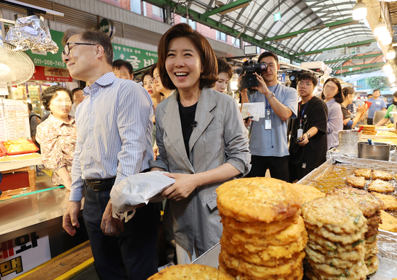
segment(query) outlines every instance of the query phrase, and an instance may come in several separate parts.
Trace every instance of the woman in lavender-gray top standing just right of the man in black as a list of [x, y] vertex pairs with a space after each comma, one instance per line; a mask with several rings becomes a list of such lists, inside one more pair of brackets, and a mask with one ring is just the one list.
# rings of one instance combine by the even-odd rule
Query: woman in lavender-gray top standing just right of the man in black
[[343, 102], [342, 86], [338, 79], [329, 78], [322, 88], [321, 98], [328, 107], [327, 150], [339, 146], [339, 130], [343, 130], [343, 115], [340, 103]]

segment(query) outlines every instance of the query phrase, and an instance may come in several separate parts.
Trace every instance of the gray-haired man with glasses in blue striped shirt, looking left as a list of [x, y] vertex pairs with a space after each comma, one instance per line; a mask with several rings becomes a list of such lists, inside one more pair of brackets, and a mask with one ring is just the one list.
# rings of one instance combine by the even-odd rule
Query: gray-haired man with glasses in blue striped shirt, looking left
[[136, 210], [128, 223], [112, 217], [112, 187], [148, 168], [153, 159], [153, 103], [142, 86], [117, 79], [113, 49], [99, 30], [67, 30], [62, 60], [70, 76], [87, 82], [77, 108], [77, 143], [72, 164], [70, 201], [63, 228], [75, 235], [85, 196], [83, 218], [95, 266], [102, 279], [147, 279], [157, 271], [157, 203]]

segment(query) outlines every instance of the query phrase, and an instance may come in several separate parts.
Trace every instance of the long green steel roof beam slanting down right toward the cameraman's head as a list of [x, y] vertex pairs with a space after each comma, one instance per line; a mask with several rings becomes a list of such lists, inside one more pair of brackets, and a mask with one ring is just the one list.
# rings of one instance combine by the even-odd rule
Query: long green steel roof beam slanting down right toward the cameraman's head
[[[197, 13], [197, 11], [193, 11], [191, 9], [186, 9], [185, 6], [179, 5], [175, 3], [172, 0], [148, 0], [146, 1], [150, 4], [156, 5], [156, 6], [170, 6], [172, 11], [175, 9], [175, 13], [178, 15], [186, 15], [186, 12], [189, 13], [190, 19], [192, 21], [196, 21], [197, 23], [202, 23], [205, 26], [208, 26], [210, 28], [214, 28], [216, 30], [219, 30], [223, 33], [226, 33], [228, 35], [231, 35], [233, 37], [237, 37], [239, 35], [239, 30], [235, 30], [234, 28], [231, 28], [227, 25], [224, 25], [222, 23], [219, 23], [218, 21], [213, 20], [212, 18], [200, 18], [200, 13]], [[187, 10], [187, 11], [186, 11]], [[249, 35], [246, 35], [244, 33], [241, 33], [240, 38], [242, 38], [244, 41], [247, 43], [251, 43], [252, 45], [257, 45], [259, 47], [262, 47], [265, 50], [269, 50], [271, 52], [276, 53], [277, 55], [281, 55], [285, 58], [292, 59], [292, 55], [288, 54], [287, 52], [283, 52], [279, 50], [277, 47], [273, 47], [268, 44], [261, 44], [259, 43], [259, 40], [251, 37]], [[295, 62], [303, 62], [303, 60], [300, 60], [298, 57], [294, 58]]]

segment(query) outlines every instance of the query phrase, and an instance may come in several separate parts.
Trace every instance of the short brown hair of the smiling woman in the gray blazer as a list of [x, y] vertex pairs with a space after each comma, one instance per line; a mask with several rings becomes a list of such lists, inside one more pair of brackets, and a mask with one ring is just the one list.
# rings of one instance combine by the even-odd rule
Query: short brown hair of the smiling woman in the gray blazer
[[175, 84], [173, 84], [168, 76], [167, 70], [165, 69], [165, 60], [167, 59], [168, 48], [170, 47], [171, 40], [175, 38], [187, 38], [192, 42], [200, 55], [202, 65], [200, 89], [204, 86], [212, 87], [214, 82], [217, 82], [218, 80], [217, 57], [215, 56], [214, 50], [212, 50], [207, 39], [197, 31], [192, 30], [192, 28], [186, 23], [179, 23], [170, 28], [163, 37], [161, 37], [160, 43], [158, 43], [157, 67], [163, 86], [166, 89], [176, 89]]

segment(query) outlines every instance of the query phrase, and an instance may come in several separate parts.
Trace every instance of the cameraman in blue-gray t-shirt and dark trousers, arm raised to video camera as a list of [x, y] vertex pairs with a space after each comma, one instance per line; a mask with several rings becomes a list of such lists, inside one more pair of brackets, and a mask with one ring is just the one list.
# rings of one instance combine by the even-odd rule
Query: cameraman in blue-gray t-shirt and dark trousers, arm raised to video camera
[[[298, 93], [295, 89], [278, 84], [278, 57], [273, 52], [263, 52], [258, 59], [261, 76], [256, 75], [259, 86], [254, 94], [241, 91], [241, 103], [265, 103], [265, 118], [251, 123], [251, 172], [247, 177], [265, 177], [270, 169], [271, 177], [288, 181], [288, 118], [296, 118], [298, 111]], [[263, 70], [262, 70], [263, 69]], [[243, 84], [244, 87], [244, 84]]]

